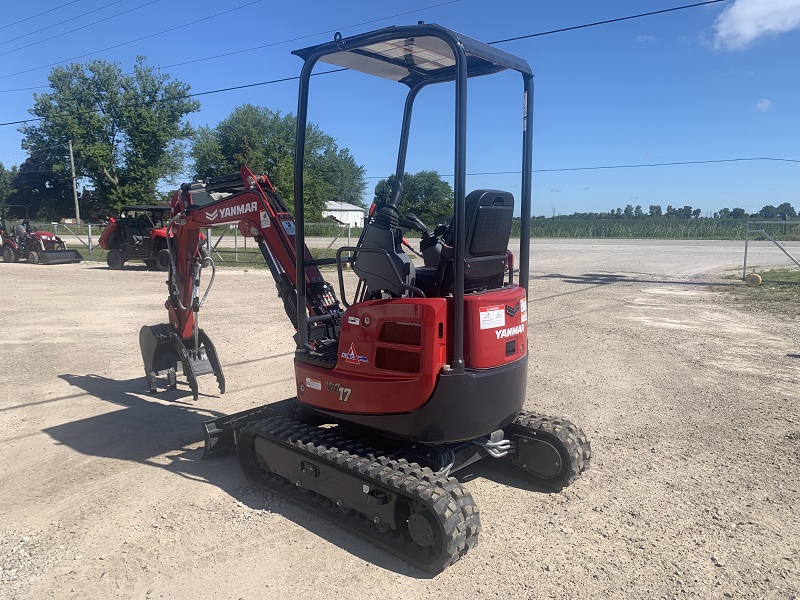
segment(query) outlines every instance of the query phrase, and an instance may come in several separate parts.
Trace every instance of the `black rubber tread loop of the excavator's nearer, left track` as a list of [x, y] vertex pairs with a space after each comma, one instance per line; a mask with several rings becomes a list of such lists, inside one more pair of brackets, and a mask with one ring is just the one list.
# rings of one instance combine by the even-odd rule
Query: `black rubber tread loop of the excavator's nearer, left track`
[[[405, 528], [379, 528], [364, 515], [337, 507], [324, 496], [300, 490], [287, 479], [258, 466], [255, 437], [289, 446], [302, 455], [324, 460], [348, 471], [365, 483], [379, 484], [411, 502], [423, 504], [439, 521], [440, 547], [432, 550], [416, 545]], [[427, 467], [405, 459], [390, 459], [336, 429], [320, 429], [287, 417], [271, 417], [243, 427], [237, 452], [242, 470], [255, 485], [279, 494], [320, 514], [425, 571], [437, 572], [455, 563], [478, 542], [480, 514], [472, 495], [454, 477], [437, 475]], [[265, 457], [269, 463], [269, 457]], [[249, 472], [248, 472], [249, 471]], [[254, 473], [258, 473], [254, 477]]]

